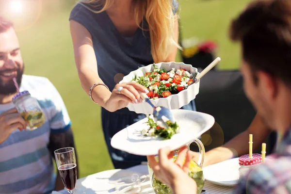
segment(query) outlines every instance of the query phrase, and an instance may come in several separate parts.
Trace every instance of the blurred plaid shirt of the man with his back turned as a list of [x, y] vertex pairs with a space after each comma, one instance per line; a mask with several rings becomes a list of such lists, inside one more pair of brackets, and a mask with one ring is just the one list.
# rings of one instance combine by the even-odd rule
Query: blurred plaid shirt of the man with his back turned
[[240, 179], [235, 194], [291, 194], [291, 128], [268, 159]]

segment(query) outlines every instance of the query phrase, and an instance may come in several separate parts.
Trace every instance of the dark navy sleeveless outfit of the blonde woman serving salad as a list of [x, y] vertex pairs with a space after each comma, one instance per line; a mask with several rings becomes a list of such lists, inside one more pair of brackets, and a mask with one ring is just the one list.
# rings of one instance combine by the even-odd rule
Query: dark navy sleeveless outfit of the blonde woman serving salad
[[[173, 12], [178, 9], [177, 0], [172, 0]], [[83, 25], [91, 34], [97, 59], [98, 74], [112, 91], [123, 75], [153, 63], [149, 32], [138, 28], [131, 37], [122, 36], [106, 12], [96, 14], [81, 4], [77, 4], [70, 15], [70, 20]], [[146, 21], [142, 22], [147, 28]], [[195, 110], [194, 100], [182, 109]], [[134, 122], [145, 118], [145, 114], [130, 112], [128, 108], [113, 113], [101, 109], [102, 129], [115, 168], [129, 168], [146, 161], [144, 156], [136, 156], [114, 149], [111, 138], [115, 133]]]

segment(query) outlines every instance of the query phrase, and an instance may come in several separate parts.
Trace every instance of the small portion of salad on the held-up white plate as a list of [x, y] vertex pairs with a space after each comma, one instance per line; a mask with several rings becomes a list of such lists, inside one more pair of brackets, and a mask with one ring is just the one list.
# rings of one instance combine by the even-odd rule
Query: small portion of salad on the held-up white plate
[[147, 125], [149, 126], [148, 129], [143, 129], [141, 131], [142, 135], [144, 136], [156, 136], [161, 137], [163, 140], [171, 139], [173, 135], [180, 132], [180, 128], [177, 125], [177, 123], [172, 123], [171, 121], [166, 121], [166, 124], [169, 126], [169, 128], [162, 128], [157, 125], [157, 123], [154, 121], [154, 119], [149, 118], [147, 116]]

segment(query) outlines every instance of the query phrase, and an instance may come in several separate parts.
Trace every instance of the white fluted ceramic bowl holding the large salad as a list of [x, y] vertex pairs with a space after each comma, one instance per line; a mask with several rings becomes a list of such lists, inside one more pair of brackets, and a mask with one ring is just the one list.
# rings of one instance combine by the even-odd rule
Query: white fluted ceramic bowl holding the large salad
[[[169, 63], [158, 63], [156, 64], [158, 68], [163, 68], [166, 71], [170, 71], [172, 67], [175, 69], [183, 68], [186, 69], [188, 72], [192, 73], [193, 75], [196, 73], [199, 74], [197, 68], [194, 68], [192, 65], [186, 65], [184, 63], [175, 63], [175, 62], [169, 62]], [[146, 72], [150, 72], [154, 70], [153, 64], [147, 65], [144, 67], [140, 67], [139, 69], [132, 71], [129, 73], [129, 75], [124, 76], [122, 82], [130, 82], [135, 76], [144, 76]], [[163, 106], [168, 109], [179, 109], [184, 105], [187, 105], [190, 103], [191, 100], [193, 100], [196, 95], [199, 93], [199, 84], [200, 81], [197, 83], [192, 84], [187, 88], [187, 90], [183, 90], [179, 92], [178, 94], [171, 95], [166, 98], [159, 98], [156, 100], [151, 100], [151, 102], [155, 106]], [[129, 103], [127, 106], [129, 111], [133, 111], [135, 113], [144, 113], [144, 114], [152, 114], [153, 108], [146, 102], [133, 104]]]

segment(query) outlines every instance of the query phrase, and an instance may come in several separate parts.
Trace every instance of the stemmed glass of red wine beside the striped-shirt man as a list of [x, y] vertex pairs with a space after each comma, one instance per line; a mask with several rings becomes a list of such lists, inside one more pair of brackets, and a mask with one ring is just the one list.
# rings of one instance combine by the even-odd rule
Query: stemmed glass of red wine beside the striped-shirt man
[[74, 147], [64, 147], [54, 151], [58, 171], [66, 190], [74, 193], [77, 182], [77, 163]]

